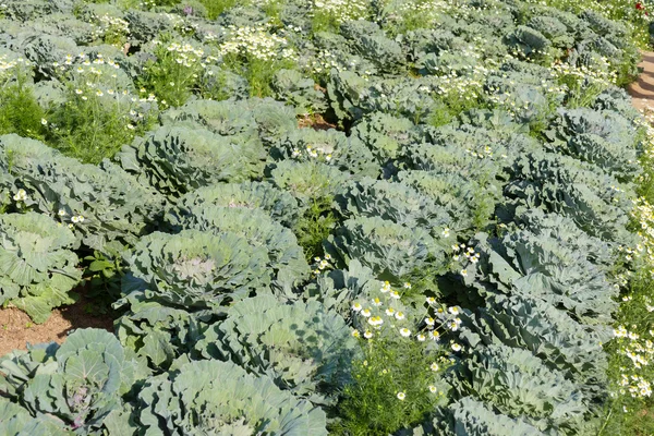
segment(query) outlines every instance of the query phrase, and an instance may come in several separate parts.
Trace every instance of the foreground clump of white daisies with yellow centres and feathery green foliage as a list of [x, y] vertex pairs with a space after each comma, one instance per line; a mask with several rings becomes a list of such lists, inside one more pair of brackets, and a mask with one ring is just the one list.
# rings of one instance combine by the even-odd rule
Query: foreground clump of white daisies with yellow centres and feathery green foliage
[[374, 295], [360, 298], [351, 306], [356, 327], [352, 336], [361, 340], [365, 356], [363, 374], [378, 380], [366, 383], [384, 384], [388, 396], [375, 402], [433, 404], [447, 390], [441, 374], [453, 362], [448, 354], [462, 350], [457, 342], [446, 348], [440, 341], [445, 331], [461, 328], [460, 310], [439, 305], [433, 296], [417, 310], [402, 304], [402, 294], [412, 288], [410, 282], [392, 287], [385, 281]]

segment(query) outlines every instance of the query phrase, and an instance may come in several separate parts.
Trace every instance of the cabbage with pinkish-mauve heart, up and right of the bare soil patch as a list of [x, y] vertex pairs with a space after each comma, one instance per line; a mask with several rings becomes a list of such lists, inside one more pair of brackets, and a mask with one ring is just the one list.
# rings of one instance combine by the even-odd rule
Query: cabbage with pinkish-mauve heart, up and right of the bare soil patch
[[187, 311], [217, 308], [270, 282], [267, 253], [233, 232], [155, 232], [124, 257], [123, 294], [144, 292], [149, 301]]

